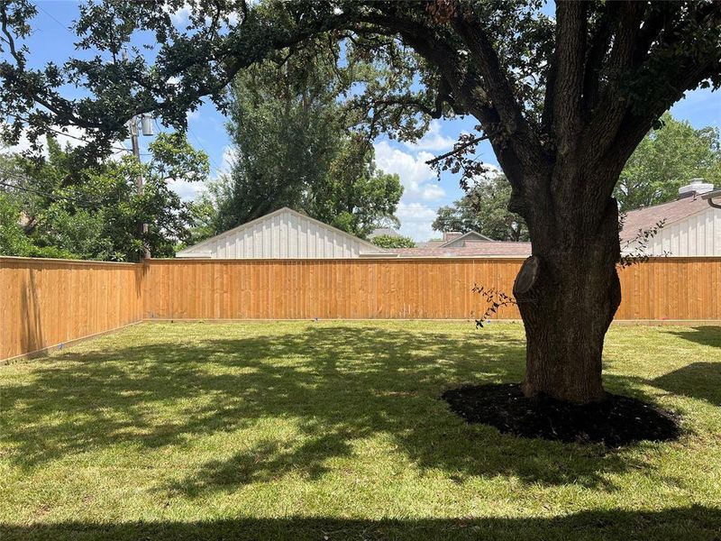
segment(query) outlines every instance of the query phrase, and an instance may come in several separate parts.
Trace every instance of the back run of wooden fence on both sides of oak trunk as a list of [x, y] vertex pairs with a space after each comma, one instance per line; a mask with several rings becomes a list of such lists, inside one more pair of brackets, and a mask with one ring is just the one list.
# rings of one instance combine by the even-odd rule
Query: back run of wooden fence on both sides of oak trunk
[[[157, 260], [149, 319], [464, 319], [487, 305], [474, 284], [508, 293], [522, 259]], [[721, 258], [660, 258], [620, 272], [616, 319], [721, 319]], [[515, 306], [499, 319], [519, 319]]]

